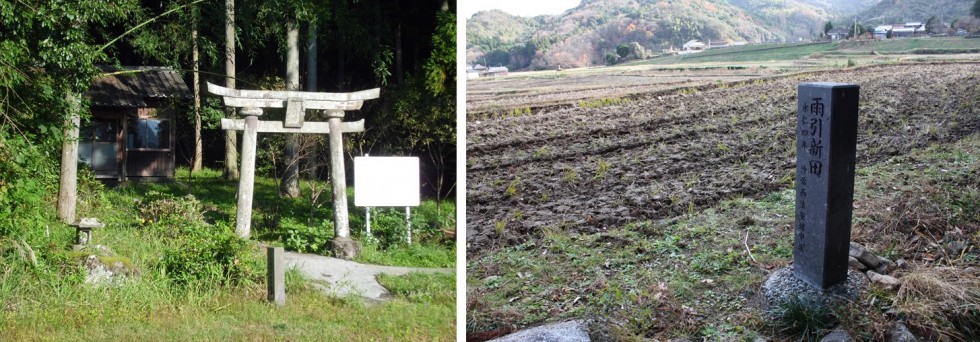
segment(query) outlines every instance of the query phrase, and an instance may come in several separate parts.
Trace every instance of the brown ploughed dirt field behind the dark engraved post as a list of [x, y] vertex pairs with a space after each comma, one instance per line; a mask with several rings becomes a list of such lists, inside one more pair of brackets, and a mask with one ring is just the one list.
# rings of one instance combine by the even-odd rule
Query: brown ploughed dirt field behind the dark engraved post
[[[517, 101], [533, 111], [467, 122], [467, 254], [513, 245], [548, 227], [601, 232], [788, 188], [803, 82], [861, 86], [858, 167], [980, 129], [980, 63], [754, 79], [759, 75], [751, 70], [704, 73], [699, 86], [680, 89], [676, 80], [687, 77], [611, 77], [577, 86], [595, 89], [581, 93], [556, 84], [538, 97], [471, 88], [468, 108]], [[568, 104], [605, 96], [628, 100]]]

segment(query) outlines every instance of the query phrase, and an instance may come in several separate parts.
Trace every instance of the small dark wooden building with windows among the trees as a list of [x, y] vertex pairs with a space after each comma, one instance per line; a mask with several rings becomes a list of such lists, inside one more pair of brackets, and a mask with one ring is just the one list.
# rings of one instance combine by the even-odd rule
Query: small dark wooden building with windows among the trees
[[100, 179], [174, 177], [177, 113], [190, 108], [180, 74], [162, 67], [108, 67], [85, 97], [92, 119], [83, 122], [78, 159]]

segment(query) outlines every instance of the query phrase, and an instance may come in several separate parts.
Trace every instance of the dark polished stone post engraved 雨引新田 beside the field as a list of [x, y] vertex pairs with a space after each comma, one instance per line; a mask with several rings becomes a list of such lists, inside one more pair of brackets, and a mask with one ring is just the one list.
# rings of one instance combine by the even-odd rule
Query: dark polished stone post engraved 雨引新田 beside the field
[[859, 93], [855, 84], [799, 86], [793, 274], [819, 289], [847, 278]]

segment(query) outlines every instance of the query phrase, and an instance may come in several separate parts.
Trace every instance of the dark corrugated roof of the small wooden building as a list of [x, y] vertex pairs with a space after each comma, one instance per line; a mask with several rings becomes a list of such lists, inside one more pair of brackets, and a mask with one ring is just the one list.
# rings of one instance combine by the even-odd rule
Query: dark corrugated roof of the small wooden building
[[93, 106], [142, 108], [147, 100], [190, 99], [193, 94], [180, 74], [164, 67], [102, 66], [110, 74], [92, 81], [86, 98]]

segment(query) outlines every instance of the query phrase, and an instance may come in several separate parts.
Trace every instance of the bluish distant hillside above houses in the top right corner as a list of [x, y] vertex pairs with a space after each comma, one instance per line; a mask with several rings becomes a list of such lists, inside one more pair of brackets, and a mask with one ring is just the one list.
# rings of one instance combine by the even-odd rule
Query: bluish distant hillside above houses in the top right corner
[[951, 22], [970, 13], [973, 0], [881, 0], [858, 15], [869, 24], [925, 22], [932, 16], [942, 15]]

